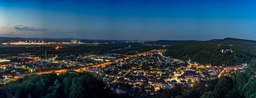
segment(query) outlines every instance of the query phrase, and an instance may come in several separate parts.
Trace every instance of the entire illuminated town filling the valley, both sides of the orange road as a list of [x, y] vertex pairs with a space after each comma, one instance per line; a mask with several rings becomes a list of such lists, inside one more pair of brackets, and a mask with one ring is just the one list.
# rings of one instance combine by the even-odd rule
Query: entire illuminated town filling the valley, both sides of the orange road
[[157, 94], [160, 89], [171, 89], [176, 86], [193, 87], [203, 80], [235, 75], [246, 67], [201, 65], [190, 60], [166, 57], [165, 51], [149, 50], [126, 56], [117, 53], [46, 53], [43, 58], [31, 53], [22, 53], [0, 59], [0, 82], [5, 84], [28, 75], [85, 71], [105, 82], [107, 87], [117, 94]]

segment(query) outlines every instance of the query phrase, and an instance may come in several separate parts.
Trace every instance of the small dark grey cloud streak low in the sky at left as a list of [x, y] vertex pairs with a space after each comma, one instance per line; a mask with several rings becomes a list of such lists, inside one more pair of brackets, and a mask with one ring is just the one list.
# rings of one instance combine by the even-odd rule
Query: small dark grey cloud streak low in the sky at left
[[46, 28], [31, 28], [23, 25], [14, 26], [14, 29], [17, 31], [46, 31]]

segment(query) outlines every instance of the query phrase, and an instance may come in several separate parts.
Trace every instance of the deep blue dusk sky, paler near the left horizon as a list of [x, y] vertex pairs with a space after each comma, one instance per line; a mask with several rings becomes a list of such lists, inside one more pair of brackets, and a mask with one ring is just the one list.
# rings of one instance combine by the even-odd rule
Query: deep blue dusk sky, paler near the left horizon
[[0, 37], [256, 40], [253, 0], [0, 0]]

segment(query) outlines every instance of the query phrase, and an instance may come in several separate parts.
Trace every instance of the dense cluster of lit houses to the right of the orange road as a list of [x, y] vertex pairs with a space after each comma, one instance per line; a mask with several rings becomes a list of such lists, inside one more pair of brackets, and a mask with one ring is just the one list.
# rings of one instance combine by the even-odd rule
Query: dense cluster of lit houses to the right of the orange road
[[222, 67], [177, 60], [165, 57], [164, 51], [143, 53], [106, 67], [91, 67], [87, 72], [102, 79], [117, 94], [132, 93], [130, 89], [125, 88], [127, 85], [134, 91], [156, 94], [160, 89], [193, 87], [202, 80], [235, 75], [245, 69], [243, 65]]

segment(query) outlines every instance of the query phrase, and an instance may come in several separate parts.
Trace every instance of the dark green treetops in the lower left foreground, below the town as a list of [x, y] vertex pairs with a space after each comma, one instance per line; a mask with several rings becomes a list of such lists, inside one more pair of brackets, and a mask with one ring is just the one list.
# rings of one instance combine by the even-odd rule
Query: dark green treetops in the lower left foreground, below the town
[[29, 76], [8, 85], [1, 85], [0, 97], [55, 98], [55, 97], [118, 97], [105, 84], [87, 73]]

